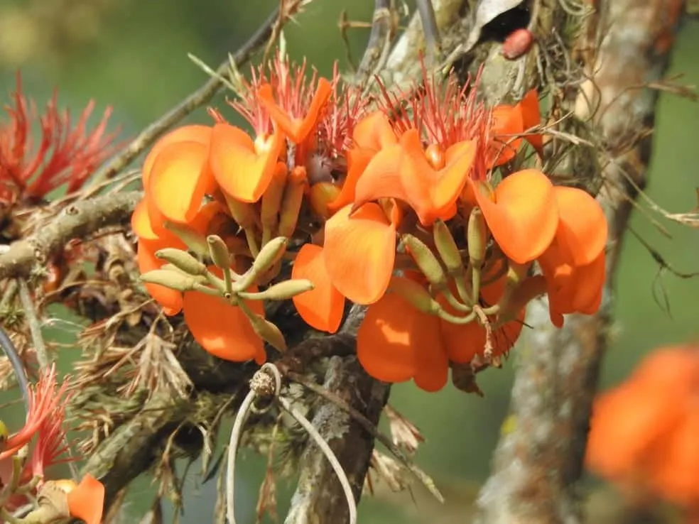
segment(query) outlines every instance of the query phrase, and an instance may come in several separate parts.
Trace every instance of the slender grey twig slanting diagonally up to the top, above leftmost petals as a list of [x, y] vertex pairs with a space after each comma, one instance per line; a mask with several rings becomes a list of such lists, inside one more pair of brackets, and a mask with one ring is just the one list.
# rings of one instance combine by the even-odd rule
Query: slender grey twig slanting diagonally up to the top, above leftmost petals
[[[266, 18], [262, 25], [255, 31], [254, 35], [249, 38], [234, 54], [236, 65], [242, 65], [249, 60], [251, 56], [265, 43], [271, 36], [273, 27], [277, 23], [279, 9], [276, 8]], [[228, 58], [224, 60], [218, 67], [217, 72], [224, 75], [230, 66]], [[136, 136], [121, 153], [116, 155], [107, 164], [103, 165], [97, 173], [94, 174], [96, 182], [102, 182], [103, 179], [113, 178], [114, 175], [126, 168], [138, 155], [141, 154], [148, 146], [155, 142], [168, 129], [177, 124], [185, 116], [190, 114], [195, 109], [202, 107], [210, 101], [217, 92], [222, 88], [223, 84], [220, 78], [209, 77], [207, 81], [195, 92], [186, 97], [183, 101], [170, 109], [166, 114], [163, 114], [159, 119], [150, 124], [146, 129], [143, 129], [139, 136]], [[87, 193], [84, 197], [90, 196]]]

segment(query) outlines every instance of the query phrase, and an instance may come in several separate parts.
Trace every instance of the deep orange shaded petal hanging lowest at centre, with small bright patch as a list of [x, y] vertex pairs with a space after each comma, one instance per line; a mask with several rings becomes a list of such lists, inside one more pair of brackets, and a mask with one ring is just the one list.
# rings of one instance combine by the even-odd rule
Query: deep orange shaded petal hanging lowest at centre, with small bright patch
[[357, 332], [357, 359], [364, 370], [390, 383], [413, 378], [418, 346], [434, 342], [423, 329], [426, 317], [393, 293], [369, 306]]

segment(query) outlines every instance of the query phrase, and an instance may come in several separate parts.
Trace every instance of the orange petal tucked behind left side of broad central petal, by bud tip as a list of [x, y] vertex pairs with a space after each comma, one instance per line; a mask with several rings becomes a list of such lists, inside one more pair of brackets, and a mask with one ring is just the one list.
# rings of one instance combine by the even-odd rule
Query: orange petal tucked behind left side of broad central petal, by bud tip
[[306, 324], [320, 331], [335, 333], [345, 312], [345, 297], [330, 282], [325, 269], [323, 248], [304, 244], [296, 253], [291, 278], [306, 279], [313, 289], [293, 297], [293, 305]]

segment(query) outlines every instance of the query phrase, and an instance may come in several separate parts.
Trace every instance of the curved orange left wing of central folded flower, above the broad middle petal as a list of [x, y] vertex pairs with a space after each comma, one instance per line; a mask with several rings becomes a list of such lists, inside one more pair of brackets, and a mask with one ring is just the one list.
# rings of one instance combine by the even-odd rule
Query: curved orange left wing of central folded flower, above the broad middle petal
[[[388, 146], [374, 155], [354, 187], [354, 208], [380, 198], [395, 198], [414, 207], [401, 180], [404, 150], [400, 144]], [[423, 197], [424, 200], [428, 196]]]

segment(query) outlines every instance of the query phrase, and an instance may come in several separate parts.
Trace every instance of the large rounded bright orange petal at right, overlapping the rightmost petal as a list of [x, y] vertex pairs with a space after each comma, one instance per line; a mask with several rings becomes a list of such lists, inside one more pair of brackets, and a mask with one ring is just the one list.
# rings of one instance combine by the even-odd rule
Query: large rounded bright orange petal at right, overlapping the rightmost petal
[[495, 188], [494, 202], [483, 182], [470, 183], [493, 238], [508, 258], [527, 263], [551, 245], [558, 228], [558, 205], [546, 175], [534, 169], [509, 175]]

